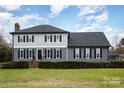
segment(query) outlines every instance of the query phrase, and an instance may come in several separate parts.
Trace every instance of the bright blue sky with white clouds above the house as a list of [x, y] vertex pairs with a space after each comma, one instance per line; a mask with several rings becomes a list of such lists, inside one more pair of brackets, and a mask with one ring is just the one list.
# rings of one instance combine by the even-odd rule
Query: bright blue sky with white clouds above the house
[[11, 42], [14, 24], [21, 29], [49, 24], [70, 32], [104, 32], [112, 46], [124, 37], [123, 5], [1, 5], [0, 34]]

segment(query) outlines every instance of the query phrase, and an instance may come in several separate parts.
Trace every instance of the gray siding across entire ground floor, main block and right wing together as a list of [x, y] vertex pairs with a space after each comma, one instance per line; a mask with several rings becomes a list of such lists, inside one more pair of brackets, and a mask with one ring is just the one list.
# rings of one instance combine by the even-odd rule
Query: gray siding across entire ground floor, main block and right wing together
[[[27, 50], [27, 48], [25, 48]], [[29, 48], [28, 48], [29, 49]], [[33, 48], [35, 50], [35, 56], [37, 55], [36, 53], [36, 48]], [[54, 51], [55, 48], [50, 48], [52, 49], [52, 51]], [[47, 58], [43, 58], [41, 61], [108, 61], [108, 48], [102, 48], [102, 58], [100, 59], [96, 59], [94, 58], [94, 48], [92, 48], [92, 57], [90, 59], [86, 59], [84, 58], [84, 48], [81, 48], [81, 58], [79, 59], [75, 59], [73, 58], [73, 49], [74, 48], [61, 48], [62, 49], [62, 58], [60, 59], [55, 59], [54, 58], [54, 52], [52, 52], [52, 58], [47, 59]], [[44, 50], [44, 48], [43, 48]], [[67, 56], [67, 50], [68, 50], [68, 56]], [[18, 59], [18, 49], [14, 48], [14, 61], [18, 62], [18, 61], [32, 61], [32, 59], [27, 59], [27, 56], [25, 57], [25, 59]], [[27, 51], [26, 51], [27, 53]], [[44, 53], [44, 52], [43, 52]], [[67, 59], [68, 57], [68, 59]]]

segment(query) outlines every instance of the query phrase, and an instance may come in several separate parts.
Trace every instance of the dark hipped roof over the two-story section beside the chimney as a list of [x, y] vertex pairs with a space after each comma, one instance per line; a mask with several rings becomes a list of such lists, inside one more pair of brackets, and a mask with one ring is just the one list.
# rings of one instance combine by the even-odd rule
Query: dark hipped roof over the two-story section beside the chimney
[[69, 32], [51, 25], [38, 25], [19, 30], [17, 32], [11, 32], [10, 34], [22, 34], [22, 33], [27, 34], [27, 33], [69, 33]]

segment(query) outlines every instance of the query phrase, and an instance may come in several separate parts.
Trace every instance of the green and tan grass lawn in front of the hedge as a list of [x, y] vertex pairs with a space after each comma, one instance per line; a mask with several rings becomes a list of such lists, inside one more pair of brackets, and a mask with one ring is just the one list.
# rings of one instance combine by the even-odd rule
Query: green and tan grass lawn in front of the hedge
[[124, 87], [124, 69], [0, 69], [0, 87]]

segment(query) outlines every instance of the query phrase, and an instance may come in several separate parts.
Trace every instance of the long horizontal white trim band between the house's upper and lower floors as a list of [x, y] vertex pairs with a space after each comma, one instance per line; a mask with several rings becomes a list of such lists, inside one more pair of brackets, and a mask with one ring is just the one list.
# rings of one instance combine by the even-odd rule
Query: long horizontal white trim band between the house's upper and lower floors
[[14, 46], [14, 48], [67, 48], [67, 46]]

